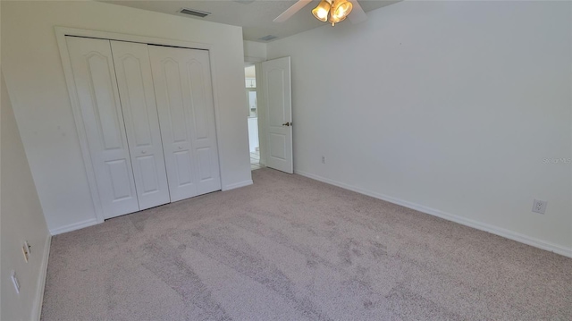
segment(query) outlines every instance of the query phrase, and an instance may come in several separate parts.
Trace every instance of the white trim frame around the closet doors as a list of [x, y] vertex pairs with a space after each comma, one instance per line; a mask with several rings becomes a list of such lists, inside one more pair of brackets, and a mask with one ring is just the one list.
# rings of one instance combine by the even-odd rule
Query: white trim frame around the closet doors
[[97, 183], [96, 183], [96, 172], [94, 170], [93, 164], [91, 162], [91, 155], [89, 153], [88, 148], [88, 138], [86, 134], [86, 129], [83, 124], [83, 117], [81, 115], [80, 109], [80, 100], [77, 95], [75, 81], [73, 78], [73, 71], [71, 69], [71, 59], [70, 54], [68, 53], [67, 44], [66, 44], [66, 36], [71, 37], [83, 37], [83, 38], [99, 38], [105, 40], [116, 40], [116, 41], [128, 41], [128, 42], [136, 42], [141, 44], [147, 45], [158, 45], [158, 46], [178, 46], [182, 48], [188, 49], [201, 49], [207, 50], [209, 57], [210, 57], [210, 72], [211, 72], [211, 83], [213, 87], [213, 102], [214, 102], [214, 127], [216, 130], [216, 142], [217, 142], [217, 151], [219, 155], [219, 172], [220, 172], [220, 180], [221, 186], [223, 186], [223, 162], [221, 162], [221, 142], [219, 137], [221, 137], [221, 130], [220, 130], [220, 111], [219, 111], [219, 103], [218, 103], [218, 86], [216, 85], [216, 74], [214, 71], [215, 68], [215, 61], [213, 58], [213, 54], [215, 49], [210, 44], [203, 44], [198, 42], [189, 42], [189, 41], [181, 41], [181, 40], [172, 40], [172, 39], [164, 39], [164, 38], [152, 38], [152, 37], [145, 37], [145, 36], [135, 36], [135, 35], [127, 35], [122, 33], [115, 33], [115, 32], [106, 32], [106, 31], [97, 31], [97, 30], [83, 30], [83, 29], [76, 29], [76, 28], [67, 28], [67, 27], [55, 27], [55, 38], [57, 40], [57, 45], [60, 50], [60, 56], [62, 57], [62, 64], [63, 64], [63, 73], [65, 76], [65, 82], [67, 84], [68, 95], [70, 96], [71, 102], [71, 110], [73, 112], [73, 118], [76, 123], [78, 137], [80, 139], [80, 148], [81, 148], [81, 155], [83, 156], [83, 162], [85, 165], [86, 175], [88, 178], [88, 185], [89, 191], [91, 193], [91, 200], [93, 203], [93, 207], [96, 213], [97, 223], [103, 223], [105, 220], [104, 211], [102, 207], [102, 202], [99, 197], [99, 193], [97, 191]]

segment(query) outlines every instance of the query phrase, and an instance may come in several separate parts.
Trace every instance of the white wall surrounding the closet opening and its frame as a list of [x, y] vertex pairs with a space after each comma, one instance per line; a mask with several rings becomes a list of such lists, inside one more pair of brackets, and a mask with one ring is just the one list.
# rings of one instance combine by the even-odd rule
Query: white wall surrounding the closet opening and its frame
[[55, 26], [210, 44], [223, 189], [251, 182], [239, 27], [97, 2], [2, 2], [2, 64], [51, 232], [93, 224]]

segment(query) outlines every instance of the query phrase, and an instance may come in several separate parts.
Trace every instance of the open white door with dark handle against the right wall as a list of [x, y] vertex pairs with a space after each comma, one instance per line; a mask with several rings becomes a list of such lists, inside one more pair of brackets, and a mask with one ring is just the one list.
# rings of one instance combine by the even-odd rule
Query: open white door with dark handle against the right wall
[[290, 57], [262, 63], [266, 100], [266, 166], [294, 173]]

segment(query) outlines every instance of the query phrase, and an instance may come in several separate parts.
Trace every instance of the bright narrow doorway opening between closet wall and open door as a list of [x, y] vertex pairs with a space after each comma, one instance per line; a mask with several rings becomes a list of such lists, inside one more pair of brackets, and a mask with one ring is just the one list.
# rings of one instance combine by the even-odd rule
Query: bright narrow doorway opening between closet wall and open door
[[257, 68], [254, 64], [248, 65], [244, 68], [244, 78], [248, 105], [248, 149], [250, 152], [250, 169], [254, 171], [263, 167], [263, 165], [260, 164]]

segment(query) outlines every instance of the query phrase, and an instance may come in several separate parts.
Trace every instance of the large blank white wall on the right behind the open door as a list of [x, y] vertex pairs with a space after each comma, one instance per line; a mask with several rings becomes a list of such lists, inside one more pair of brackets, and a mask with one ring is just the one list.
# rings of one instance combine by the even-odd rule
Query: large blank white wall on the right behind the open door
[[269, 43], [295, 170], [572, 256], [571, 6], [406, 1]]

